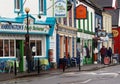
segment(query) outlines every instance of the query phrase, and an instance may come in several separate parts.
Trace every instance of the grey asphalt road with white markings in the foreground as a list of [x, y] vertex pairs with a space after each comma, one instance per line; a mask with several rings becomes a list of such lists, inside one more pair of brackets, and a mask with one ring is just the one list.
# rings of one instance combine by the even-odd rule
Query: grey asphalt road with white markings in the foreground
[[49, 76], [26, 77], [0, 84], [120, 84], [120, 65], [96, 71], [51, 73]]

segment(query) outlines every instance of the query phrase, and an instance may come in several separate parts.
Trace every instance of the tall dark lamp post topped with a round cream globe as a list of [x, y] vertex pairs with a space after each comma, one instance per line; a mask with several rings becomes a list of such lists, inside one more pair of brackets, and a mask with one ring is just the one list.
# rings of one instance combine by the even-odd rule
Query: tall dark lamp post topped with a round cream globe
[[25, 34], [25, 49], [26, 49], [26, 60], [27, 60], [27, 67], [28, 67], [28, 73], [31, 71], [31, 57], [30, 57], [30, 49], [29, 49], [29, 13], [30, 9], [29, 8], [25, 8], [25, 12], [26, 12], [26, 17], [27, 17], [27, 33]]

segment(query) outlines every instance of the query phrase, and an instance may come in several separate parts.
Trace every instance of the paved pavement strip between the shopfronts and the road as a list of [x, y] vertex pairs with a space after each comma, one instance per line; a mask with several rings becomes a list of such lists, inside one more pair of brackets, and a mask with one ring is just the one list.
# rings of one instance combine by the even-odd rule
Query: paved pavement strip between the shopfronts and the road
[[[110, 66], [113, 66], [113, 64], [110, 65], [88, 64], [81, 66], [81, 71], [92, 71]], [[79, 67], [67, 68], [65, 72], [63, 72], [62, 69], [52, 69], [48, 71], [41, 71], [39, 74], [38, 72], [31, 72], [31, 73], [22, 72], [22, 73], [17, 73], [17, 75], [15, 75], [14, 73], [0, 73], [0, 81], [11, 80], [20, 77], [23, 78], [23, 77], [43, 76], [43, 75], [51, 75], [51, 74], [59, 75], [61, 73], [77, 72], [77, 71], [79, 71]]]

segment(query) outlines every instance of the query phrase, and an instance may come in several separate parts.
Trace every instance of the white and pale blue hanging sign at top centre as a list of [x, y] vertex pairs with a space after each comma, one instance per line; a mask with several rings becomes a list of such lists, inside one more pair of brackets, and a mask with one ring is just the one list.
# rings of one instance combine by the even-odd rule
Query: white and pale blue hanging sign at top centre
[[67, 0], [54, 0], [54, 17], [66, 17]]

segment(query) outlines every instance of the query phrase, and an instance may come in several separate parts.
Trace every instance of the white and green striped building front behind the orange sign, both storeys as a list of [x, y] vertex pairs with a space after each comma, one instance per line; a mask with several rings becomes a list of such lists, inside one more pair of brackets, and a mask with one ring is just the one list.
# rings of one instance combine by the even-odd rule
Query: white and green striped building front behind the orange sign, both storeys
[[[80, 55], [81, 55], [81, 65], [92, 63], [92, 38], [93, 32], [95, 32], [95, 10], [82, 3], [78, 2], [76, 7], [79, 5], [84, 5], [87, 8], [87, 18], [86, 19], [76, 19], [76, 27], [78, 28], [77, 38], [80, 39], [80, 42], [77, 42], [80, 48]], [[83, 47], [87, 46], [90, 51], [90, 58], [85, 59]], [[87, 63], [86, 63], [87, 60]]]

